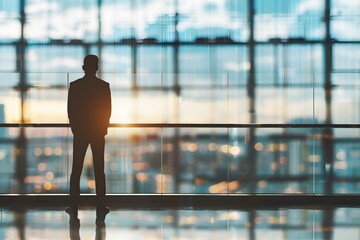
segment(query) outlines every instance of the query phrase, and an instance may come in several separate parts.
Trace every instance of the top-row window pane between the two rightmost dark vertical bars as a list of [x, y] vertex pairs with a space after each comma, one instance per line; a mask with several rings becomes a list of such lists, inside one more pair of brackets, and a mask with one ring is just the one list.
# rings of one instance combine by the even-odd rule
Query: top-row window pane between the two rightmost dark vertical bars
[[255, 32], [258, 41], [322, 39], [324, 1], [256, 0]]

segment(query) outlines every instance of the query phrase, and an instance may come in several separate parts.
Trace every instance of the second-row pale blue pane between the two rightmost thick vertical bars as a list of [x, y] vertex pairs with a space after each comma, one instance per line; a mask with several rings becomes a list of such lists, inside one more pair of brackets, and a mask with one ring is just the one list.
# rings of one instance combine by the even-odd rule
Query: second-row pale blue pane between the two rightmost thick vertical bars
[[278, 86], [319, 86], [324, 81], [321, 45], [256, 46], [257, 84]]

